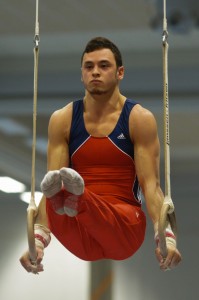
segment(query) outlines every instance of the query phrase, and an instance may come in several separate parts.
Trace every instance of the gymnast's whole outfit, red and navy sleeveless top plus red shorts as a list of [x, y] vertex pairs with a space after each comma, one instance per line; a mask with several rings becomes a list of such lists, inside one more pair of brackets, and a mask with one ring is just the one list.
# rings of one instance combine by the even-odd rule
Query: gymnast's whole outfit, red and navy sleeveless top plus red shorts
[[83, 100], [73, 102], [70, 167], [83, 177], [85, 192], [76, 217], [57, 215], [48, 201], [47, 213], [52, 233], [81, 259], [125, 259], [144, 240], [146, 221], [129, 135], [135, 105], [126, 99], [111, 134], [93, 137], [85, 128]]

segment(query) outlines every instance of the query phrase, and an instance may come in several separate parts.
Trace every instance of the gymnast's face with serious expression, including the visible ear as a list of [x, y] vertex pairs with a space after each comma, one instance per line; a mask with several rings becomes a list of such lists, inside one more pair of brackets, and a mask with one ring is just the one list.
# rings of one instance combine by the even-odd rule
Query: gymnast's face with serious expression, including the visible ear
[[85, 53], [82, 60], [82, 81], [92, 95], [106, 94], [118, 86], [123, 79], [124, 68], [117, 67], [110, 49]]

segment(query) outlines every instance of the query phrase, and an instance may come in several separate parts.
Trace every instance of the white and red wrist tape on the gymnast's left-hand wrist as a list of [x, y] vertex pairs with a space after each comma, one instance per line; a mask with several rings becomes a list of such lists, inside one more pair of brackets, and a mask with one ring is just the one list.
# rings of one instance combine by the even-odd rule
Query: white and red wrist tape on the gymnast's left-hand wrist
[[46, 248], [51, 241], [50, 230], [40, 224], [34, 225], [35, 244], [39, 248]]

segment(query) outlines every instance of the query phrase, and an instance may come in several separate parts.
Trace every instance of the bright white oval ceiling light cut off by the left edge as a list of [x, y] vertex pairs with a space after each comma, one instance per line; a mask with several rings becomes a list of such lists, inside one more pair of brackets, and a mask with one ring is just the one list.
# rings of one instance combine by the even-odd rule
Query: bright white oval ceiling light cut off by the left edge
[[22, 193], [26, 189], [26, 186], [10, 177], [0, 177], [0, 190], [4, 193]]

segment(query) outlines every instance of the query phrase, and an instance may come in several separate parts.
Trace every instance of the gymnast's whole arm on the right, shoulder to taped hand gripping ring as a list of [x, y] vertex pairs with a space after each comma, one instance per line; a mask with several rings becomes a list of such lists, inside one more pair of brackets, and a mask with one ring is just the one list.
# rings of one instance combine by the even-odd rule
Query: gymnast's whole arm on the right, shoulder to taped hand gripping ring
[[130, 135], [134, 143], [136, 173], [141, 186], [148, 214], [153, 222], [156, 240], [156, 257], [162, 270], [176, 267], [181, 261], [175, 235], [170, 226], [166, 229], [167, 257], [162, 257], [158, 245], [158, 220], [164, 200], [160, 187], [160, 144], [153, 114], [136, 105], [130, 115]]

